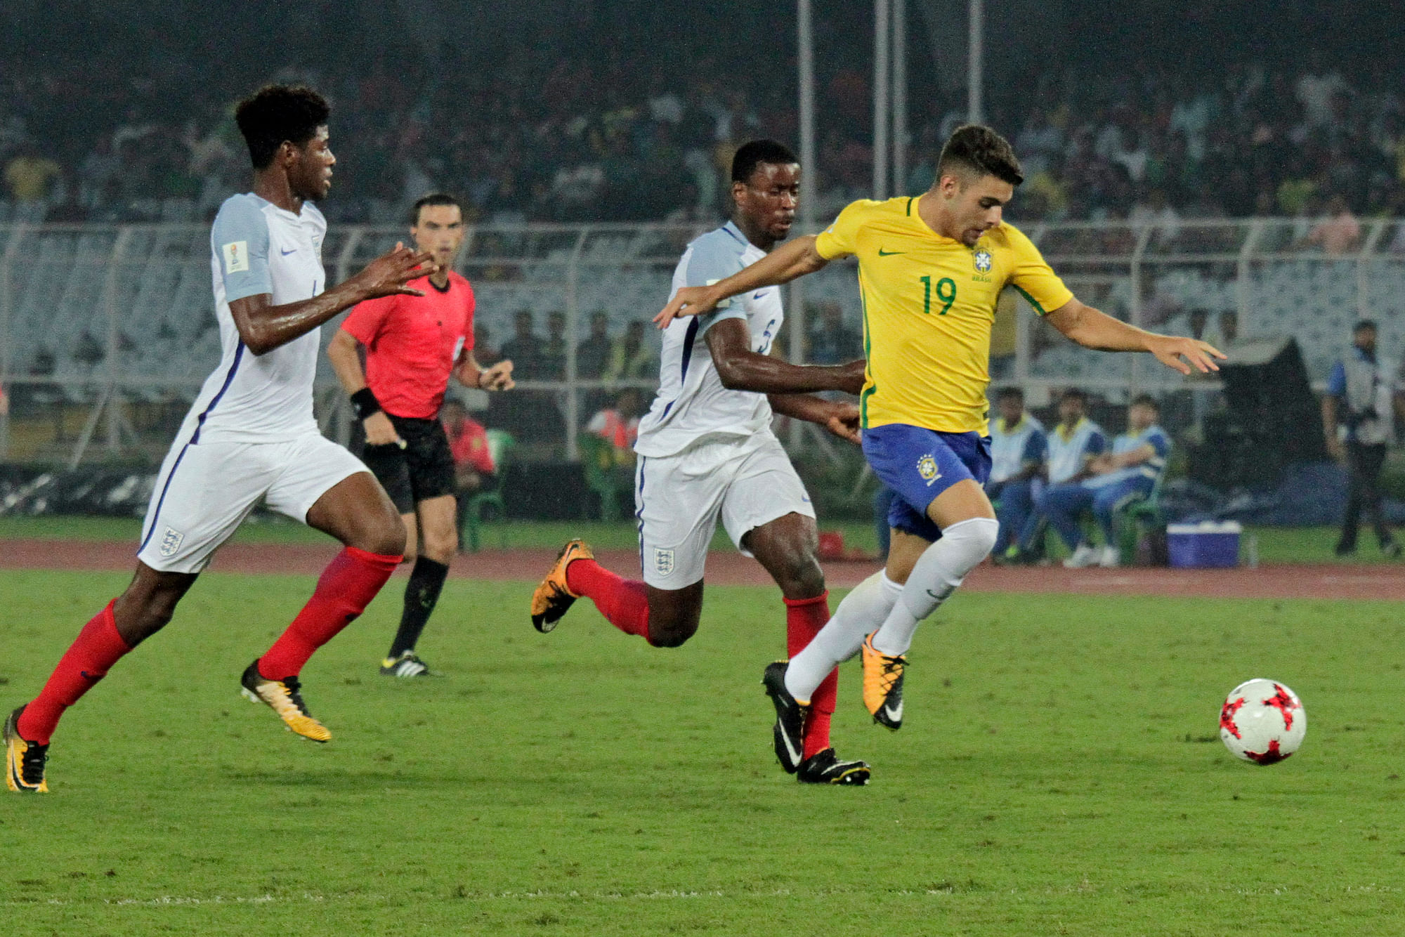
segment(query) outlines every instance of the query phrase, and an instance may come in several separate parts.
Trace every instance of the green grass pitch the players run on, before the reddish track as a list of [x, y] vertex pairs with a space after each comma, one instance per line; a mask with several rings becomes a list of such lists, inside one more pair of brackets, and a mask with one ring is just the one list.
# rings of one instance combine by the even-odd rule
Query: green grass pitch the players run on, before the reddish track
[[[0, 575], [0, 695], [38, 688], [124, 575]], [[957, 596], [913, 648], [908, 723], [849, 664], [842, 753], [802, 788], [757, 684], [766, 589], [710, 589], [656, 650], [587, 604], [450, 582], [375, 673], [398, 590], [320, 652], [313, 746], [240, 700], [308, 577], [211, 573], [60, 728], [53, 794], [0, 795], [11, 934], [1394, 934], [1405, 929], [1398, 605]], [[1302, 752], [1234, 760], [1217, 715], [1287, 681]]]

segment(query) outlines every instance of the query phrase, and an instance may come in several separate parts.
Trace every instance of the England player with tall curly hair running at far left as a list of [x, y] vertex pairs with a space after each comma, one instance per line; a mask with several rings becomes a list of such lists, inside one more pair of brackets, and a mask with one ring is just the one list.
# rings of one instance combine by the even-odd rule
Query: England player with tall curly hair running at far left
[[39, 695], [4, 723], [11, 791], [48, 791], [49, 736], [63, 711], [170, 621], [260, 499], [346, 548], [240, 683], [291, 730], [313, 742], [332, 738], [308, 712], [298, 673], [385, 584], [400, 562], [405, 525], [365, 466], [318, 431], [318, 327], [362, 299], [416, 292], [405, 284], [424, 275], [420, 266], [430, 257], [396, 247], [326, 289], [326, 221], [311, 201], [332, 187], [327, 117], [320, 94], [289, 86], [266, 87], [235, 112], [254, 184], [221, 207], [211, 233], [223, 354], [157, 476], [132, 583], [83, 628]]

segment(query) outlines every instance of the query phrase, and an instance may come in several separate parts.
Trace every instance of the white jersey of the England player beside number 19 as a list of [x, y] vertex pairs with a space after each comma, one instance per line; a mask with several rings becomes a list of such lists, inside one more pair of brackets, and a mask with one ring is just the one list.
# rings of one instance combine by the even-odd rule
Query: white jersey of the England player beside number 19
[[[728, 222], [683, 251], [673, 271], [673, 294], [680, 287], [705, 287], [725, 280], [764, 256], [764, 250]], [[639, 421], [639, 440], [634, 447], [639, 455], [673, 455], [700, 441], [746, 438], [770, 427], [771, 405], [766, 395], [726, 389], [712, 364], [702, 337], [724, 319], [743, 319], [752, 333], [752, 351], [770, 354], [771, 341], [785, 319], [781, 288], [753, 289], [724, 301], [715, 312], [669, 323], [659, 354], [659, 392]]]

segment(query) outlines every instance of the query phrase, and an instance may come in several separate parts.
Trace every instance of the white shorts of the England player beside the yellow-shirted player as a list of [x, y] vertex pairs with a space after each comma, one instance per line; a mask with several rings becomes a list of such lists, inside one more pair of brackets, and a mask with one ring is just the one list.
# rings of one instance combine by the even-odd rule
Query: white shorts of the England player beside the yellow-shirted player
[[740, 441], [702, 443], [676, 455], [639, 457], [634, 469], [639, 565], [655, 589], [702, 579], [718, 516], [745, 556], [742, 538], [778, 517], [815, 517], [780, 440], [764, 430]]

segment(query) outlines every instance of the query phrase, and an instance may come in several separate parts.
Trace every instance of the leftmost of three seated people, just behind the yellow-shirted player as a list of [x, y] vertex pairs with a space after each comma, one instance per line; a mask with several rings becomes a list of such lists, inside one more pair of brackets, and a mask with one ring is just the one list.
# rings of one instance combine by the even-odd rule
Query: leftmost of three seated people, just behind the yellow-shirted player
[[1000, 532], [991, 551], [999, 563], [1016, 549], [1014, 541], [1034, 513], [1034, 496], [1044, 489], [1048, 434], [1043, 423], [1026, 413], [1020, 388], [1002, 388], [995, 406], [1000, 416], [991, 424], [991, 479], [985, 490], [991, 500], [999, 502], [995, 520]]

